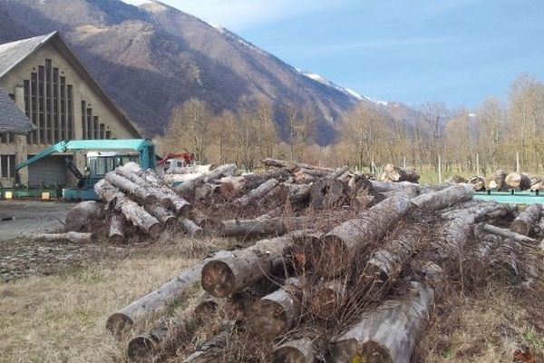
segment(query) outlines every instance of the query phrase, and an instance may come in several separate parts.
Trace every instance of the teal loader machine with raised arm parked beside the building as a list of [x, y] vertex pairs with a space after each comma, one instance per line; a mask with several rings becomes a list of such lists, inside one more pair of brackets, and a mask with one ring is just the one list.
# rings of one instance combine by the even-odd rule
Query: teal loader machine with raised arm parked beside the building
[[[77, 152], [86, 151], [86, 167], [84, 172], [80, 172], [72, 161], [67, 157], [64, 162], [67, 168], [77, 179], [76, 185], [58, 187], [44, 187], [42, 189], [30, 189], [21, 185], [18, 178], [18, 171], [33, 164], [56, 152]], [[26, 162], [15, 165], [15, 186], [9, 190], [12, 191], [15, 198], [38, 197], [43, 191], [49, 191], [57, 197], [67, 201], [96, 201], [98, 195], [94, 191], [94, 184], [103, 179], [107, 172], [112, 172], [115, 168], [127, 162], [138, 162], [142, 169], [155, 169], [156, 156], [155, 147], [148, 139], [128, 139], [128, 140], [73, 140], [59, 142], [44, 149], [37, 155], [28, 159]]]

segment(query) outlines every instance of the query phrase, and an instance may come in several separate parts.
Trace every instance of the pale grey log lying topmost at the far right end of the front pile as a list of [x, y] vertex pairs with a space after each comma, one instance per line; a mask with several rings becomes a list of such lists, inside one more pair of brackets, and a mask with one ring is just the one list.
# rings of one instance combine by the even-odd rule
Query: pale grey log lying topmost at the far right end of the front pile
[[412, 204], [423, 211], [437, 211], [461, 201], [470, 201], [474, 191], [468, 184], [456, 184], [443, 189], [422, 194], [413, 198]]

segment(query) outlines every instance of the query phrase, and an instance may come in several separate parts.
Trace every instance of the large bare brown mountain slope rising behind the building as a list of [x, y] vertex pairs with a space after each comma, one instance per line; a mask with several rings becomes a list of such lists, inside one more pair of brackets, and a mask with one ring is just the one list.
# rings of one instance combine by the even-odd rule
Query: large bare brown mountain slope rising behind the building
[[326, 143], [334, 137], [331, 121], [361, 102], [237, 34], [156, 1], [136, 7], [120, 0], [0, 0], [2, 41], [54, 29], [147, 135], [163, 132], [170, 110], [190, 97], [220, 112], [253, 94], [275, 103], [284, 132], [288, 103], [313, 108], [317, 141]]

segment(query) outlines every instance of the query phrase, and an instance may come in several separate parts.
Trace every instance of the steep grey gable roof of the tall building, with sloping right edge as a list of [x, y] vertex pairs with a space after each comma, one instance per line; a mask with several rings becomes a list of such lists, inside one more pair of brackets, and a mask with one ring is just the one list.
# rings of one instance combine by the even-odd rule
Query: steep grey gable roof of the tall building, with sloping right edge
[[134, 135], [141, 137], [140, 132], [134, 127], [127, 115], [115, 104], [102, 87], [96, 83], [92, 75], [85, 68], [79, 58], [73, 53], [72, 49], [66, 44], [61, 35], [54, 31], [50, 34], [34, 36], [12, 43], [0, 44], [0, 78], [13, 70], [17, 64], [20, 64], [29, 55], [34, 54], [44, 44], [53, 44], [57, 51], [72, 65], [73, 69], [85, 80], [91, 89], [102, 97], [102, 101], [112, 108], [113, 113], [123, 123], [123, 125]]

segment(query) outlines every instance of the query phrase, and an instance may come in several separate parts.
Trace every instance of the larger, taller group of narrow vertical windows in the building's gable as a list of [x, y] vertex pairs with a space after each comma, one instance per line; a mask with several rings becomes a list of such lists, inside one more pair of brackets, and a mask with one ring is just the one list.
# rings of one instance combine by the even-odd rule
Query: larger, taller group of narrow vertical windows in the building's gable
[[73, 138], [73, 87], [53, 66], [51, 59], [38, 65], [38, 72], [24, 80], [25, 113], [37, 130], [28, 137], [30, 144], [52, 144]]

